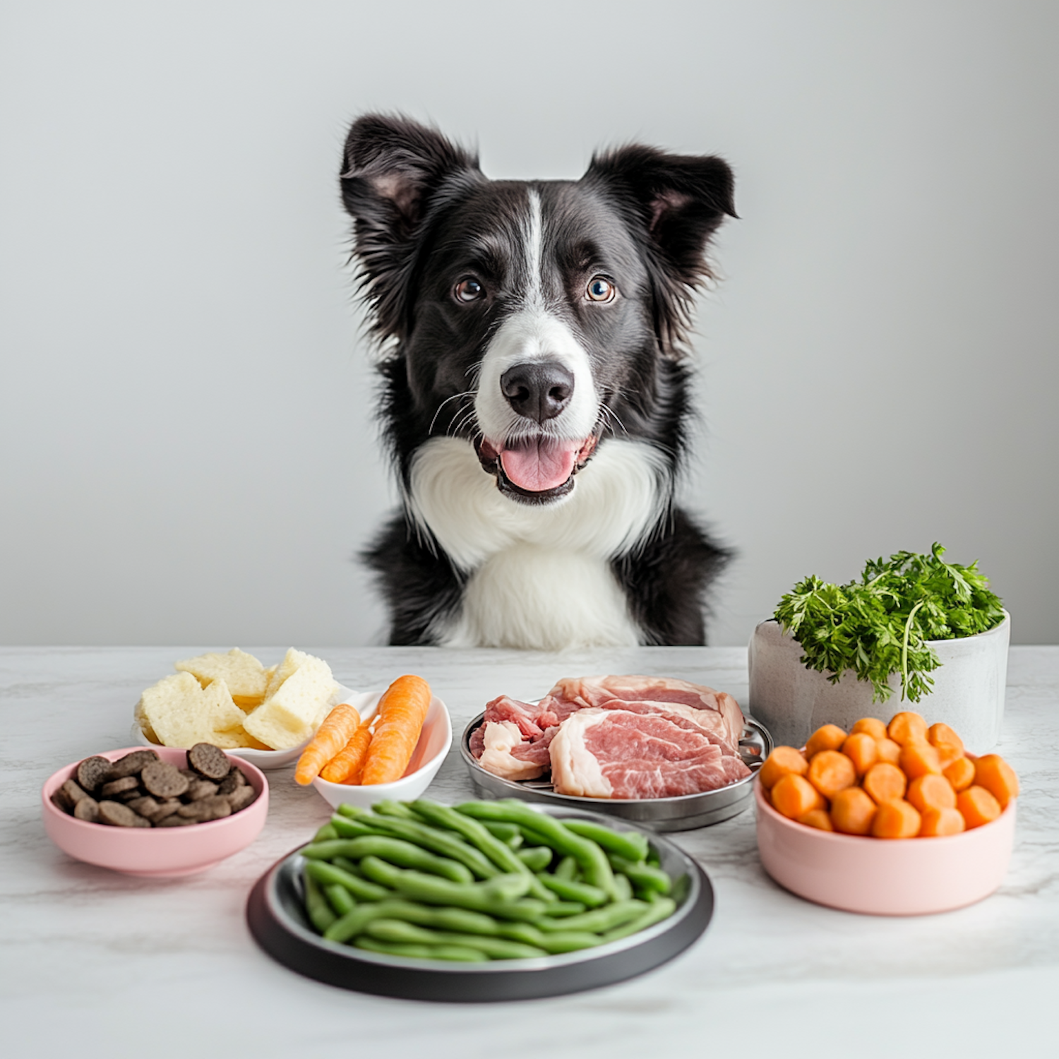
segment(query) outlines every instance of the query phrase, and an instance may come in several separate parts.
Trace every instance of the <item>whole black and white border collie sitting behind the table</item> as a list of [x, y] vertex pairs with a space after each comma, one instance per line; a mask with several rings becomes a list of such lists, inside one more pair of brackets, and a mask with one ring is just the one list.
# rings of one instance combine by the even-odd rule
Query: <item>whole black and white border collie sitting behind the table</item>
[[726, 556], [674, 487], [732, 185], [719, 158], [643, 146], [577, 181], [489, 180], [434, 129], [354, 122], [342, 201], [403, 497], [364, 555], [392, 644], [703, 643]]

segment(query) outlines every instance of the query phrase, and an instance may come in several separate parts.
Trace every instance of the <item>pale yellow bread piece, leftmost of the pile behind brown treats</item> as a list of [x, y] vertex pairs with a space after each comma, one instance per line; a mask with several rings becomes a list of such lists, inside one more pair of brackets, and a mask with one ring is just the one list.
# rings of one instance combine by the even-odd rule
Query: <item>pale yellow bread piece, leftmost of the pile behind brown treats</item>
[[231, 750], [246, 744], [241, 740], [247, 715], [232, 701], [223, 680], [203, 688], [190, 672], [165, 677], [143, 693], [136, 715], [147, 738], [154, 735], [164, 747], [212, 742]]

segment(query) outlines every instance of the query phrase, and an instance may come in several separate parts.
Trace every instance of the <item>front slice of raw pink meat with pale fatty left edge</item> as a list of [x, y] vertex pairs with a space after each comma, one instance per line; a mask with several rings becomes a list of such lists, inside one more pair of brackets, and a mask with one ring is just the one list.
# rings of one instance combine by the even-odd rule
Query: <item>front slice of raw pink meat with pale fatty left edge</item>
[[588, 707], [552, 739], [552, 783], [582, 797], [672, 797], [750, 775], [705, 733], [662, 715]]

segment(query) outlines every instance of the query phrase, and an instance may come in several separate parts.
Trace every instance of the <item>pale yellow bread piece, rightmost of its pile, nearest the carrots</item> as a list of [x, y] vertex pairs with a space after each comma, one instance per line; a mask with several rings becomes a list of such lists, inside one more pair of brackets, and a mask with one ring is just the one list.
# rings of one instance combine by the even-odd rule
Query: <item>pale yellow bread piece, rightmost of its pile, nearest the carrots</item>
[[244, 728], [273, 750], [290, 750], [320, 726], [338, 684], [323, 659], [293, 648], [287, 651], [272, 684], [275, 690], [247, 715]]

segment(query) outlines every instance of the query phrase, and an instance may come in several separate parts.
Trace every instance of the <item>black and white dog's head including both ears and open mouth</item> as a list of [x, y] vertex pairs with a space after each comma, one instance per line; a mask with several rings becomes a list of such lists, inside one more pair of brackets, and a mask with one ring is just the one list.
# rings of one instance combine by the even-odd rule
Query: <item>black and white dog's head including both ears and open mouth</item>
[[556, 501], [610, 433], [649, 436], [725, 214], [719, 158], [629, 146], [578, 181], [492, 181], [415, 122], [357, 120], [342, 200], [407, 430], [466, 437], [505, 495]]

